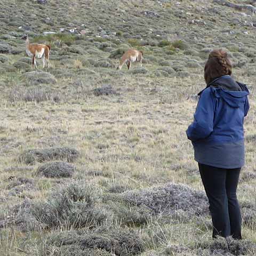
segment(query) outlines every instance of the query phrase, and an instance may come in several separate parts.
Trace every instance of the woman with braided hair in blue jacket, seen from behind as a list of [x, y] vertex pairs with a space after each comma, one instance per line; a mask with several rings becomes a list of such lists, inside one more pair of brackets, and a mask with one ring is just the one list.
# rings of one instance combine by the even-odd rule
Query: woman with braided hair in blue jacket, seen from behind
[[242, 239], [241, 212], [236, 197], [244, 165], [244, 116], [249, 110], [246, 85], [231, 76], [227, 53], [214, 50], [204, 68], [206, 88], [201, 91], [187, 137], [209, 199], [213, 238]]

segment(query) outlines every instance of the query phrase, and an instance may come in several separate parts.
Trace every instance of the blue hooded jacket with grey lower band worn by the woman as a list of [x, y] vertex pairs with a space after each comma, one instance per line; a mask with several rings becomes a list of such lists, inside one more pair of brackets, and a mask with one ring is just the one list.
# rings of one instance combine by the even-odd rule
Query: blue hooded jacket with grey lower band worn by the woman
[[246, 85], [229, 75], [209, 84], [200, 96], [194, 122], [186, 131], [198, 163], [235, 169], [244, 165], [244, 116], [249, 110]]

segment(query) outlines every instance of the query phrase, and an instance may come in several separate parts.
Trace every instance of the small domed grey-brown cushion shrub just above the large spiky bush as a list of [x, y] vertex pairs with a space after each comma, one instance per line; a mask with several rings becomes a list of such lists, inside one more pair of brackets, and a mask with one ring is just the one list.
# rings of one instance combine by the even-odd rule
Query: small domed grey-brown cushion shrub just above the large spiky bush
[[38, 167], [36, 174], [47, 178], [68, 178], [72, 177], [76, 170], [75, 165], [66, 162], [46, 163]]

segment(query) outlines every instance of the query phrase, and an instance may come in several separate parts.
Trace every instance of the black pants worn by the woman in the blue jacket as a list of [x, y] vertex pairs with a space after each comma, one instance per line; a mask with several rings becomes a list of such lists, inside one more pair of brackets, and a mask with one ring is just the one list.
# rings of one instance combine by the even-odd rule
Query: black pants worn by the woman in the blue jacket
[[233, 236], [242, 239], [242, 218], [236, 197], [238, 169], [221, 169], [198, 163], [212, 215], [213, 233], [222, 237]]

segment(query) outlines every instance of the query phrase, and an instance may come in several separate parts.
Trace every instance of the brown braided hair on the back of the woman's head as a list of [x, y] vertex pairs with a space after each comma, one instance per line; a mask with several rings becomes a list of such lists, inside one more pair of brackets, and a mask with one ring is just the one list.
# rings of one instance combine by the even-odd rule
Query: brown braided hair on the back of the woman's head
[[211, 51], [204, 67], [206, 84], [209, 85], [215, 78], [231, 74], [232, 65], [228, 53], [221, 49]]

